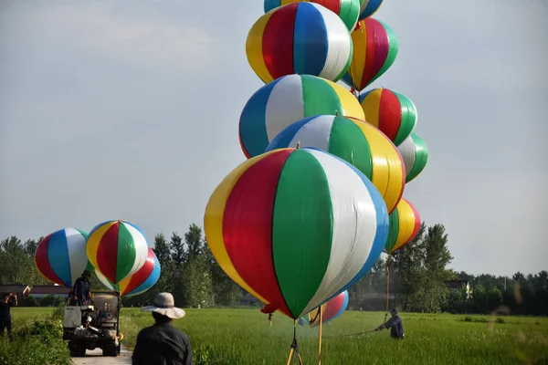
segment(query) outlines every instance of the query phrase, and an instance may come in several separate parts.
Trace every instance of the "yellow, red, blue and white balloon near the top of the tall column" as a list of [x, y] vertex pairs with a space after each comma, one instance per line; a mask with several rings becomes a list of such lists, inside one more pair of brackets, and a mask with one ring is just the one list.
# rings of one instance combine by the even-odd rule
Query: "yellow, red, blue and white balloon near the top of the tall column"
[[246, 44], [249, 65], [269, 83], [291, 74], [342, 78], [353, 54], [342, 20], [313, 3], [274, 8], [251, 27]]

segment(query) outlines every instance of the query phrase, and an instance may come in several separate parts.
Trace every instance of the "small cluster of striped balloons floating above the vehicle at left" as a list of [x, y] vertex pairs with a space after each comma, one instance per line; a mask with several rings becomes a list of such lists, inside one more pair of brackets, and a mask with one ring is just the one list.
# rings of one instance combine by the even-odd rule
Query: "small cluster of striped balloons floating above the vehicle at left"
[[121, 296], [132, 297], [153, 287], [160, 263], [142, 230], [127, 221], [108, 221], [90, 233], [64, 228], [37, 245], [35, 264], [47, 280], [72, 287], [84, 270]]

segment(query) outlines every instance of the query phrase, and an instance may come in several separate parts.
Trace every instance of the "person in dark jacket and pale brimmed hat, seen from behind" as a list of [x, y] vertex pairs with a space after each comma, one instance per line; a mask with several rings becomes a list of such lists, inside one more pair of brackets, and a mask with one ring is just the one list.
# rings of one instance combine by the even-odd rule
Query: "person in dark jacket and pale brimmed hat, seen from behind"
[[153, 312], [156, 323], [137, 335], [133, 349], [132, 365], [194, 365], [190, 339], [182, 330], [174, 328], [172, 321], [183, 318], [184, 310], [175, 308], [171, 293], [160, 293], [152, 306], [143, 307]]

